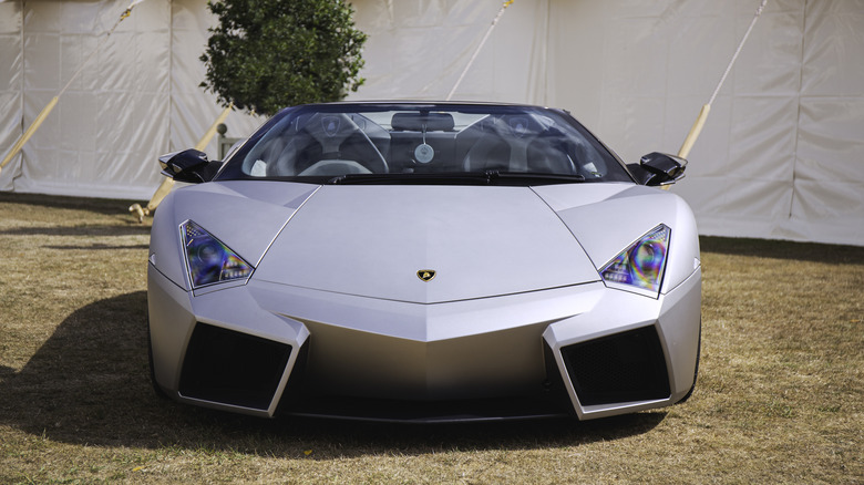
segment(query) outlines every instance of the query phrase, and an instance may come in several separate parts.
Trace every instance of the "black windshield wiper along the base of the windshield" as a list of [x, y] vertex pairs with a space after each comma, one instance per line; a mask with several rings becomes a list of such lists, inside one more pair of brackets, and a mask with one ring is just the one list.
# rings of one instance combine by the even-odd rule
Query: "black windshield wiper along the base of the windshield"
[[430, 184], [430, 185], [526, 185], [585, 182], [582, 175], [543, 174], [536, 172], [442, 172], [409, 174], [347, 174], [327, 180], [329, 185], [361, 184]]

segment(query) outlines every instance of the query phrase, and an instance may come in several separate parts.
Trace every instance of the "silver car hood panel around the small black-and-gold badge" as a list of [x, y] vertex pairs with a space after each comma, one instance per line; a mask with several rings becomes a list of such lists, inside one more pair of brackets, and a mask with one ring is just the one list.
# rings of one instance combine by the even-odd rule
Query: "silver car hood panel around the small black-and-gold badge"
[[[434, 271], [424, 281], [418, 272]], [[253, 279], [434, 303], [598, 281], [562, 219], [529, 187], [323, 186]]]

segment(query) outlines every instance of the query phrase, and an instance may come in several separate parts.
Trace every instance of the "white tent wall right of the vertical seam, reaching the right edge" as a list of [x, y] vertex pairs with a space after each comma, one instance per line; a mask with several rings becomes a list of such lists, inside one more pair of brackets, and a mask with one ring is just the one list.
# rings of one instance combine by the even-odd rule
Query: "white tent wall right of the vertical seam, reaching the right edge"
[[[676, 153], [759, 3], [553, 2], [551, 103], [627, 162]], [[861, 59], [864, 2], [768, 2], [672, 188], [701, 234], [864, 245]]]

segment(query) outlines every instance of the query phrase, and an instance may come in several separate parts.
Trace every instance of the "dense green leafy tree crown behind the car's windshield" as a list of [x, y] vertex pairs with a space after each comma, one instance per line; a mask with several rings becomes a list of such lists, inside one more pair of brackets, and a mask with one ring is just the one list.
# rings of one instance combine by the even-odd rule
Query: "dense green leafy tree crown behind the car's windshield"
[[363, 83], [367, 35], [342, 0], [210, 0], [219, 19], [200, 60], [200, 85], [227, 106], [270, 115], [285, 106], [339, 101]]

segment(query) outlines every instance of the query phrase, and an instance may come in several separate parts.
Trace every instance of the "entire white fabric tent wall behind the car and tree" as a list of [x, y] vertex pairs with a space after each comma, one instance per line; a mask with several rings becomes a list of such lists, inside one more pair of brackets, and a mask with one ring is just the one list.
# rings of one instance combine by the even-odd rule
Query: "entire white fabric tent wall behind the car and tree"
[[[352, 99], [443, 99], [500, 0], [354, 0], [369, 34]], [[758, 0], [516, 0], [456, 100], [570, 110], [627, 162], [676, 153]], [[0, 152], [60, 90], [125, 2], [0, 2]], [[146, 200], [155, 156], [220, 109], [198, 83], [204, 0], [135, 7], [0, 189]], [[769, 0], [672, 190], [709, 235], [864, 245], [864, 2]], [[229, 135], [259, 120], [234, 113]], [[212, 145], [210, 155], [215, 155]]]

